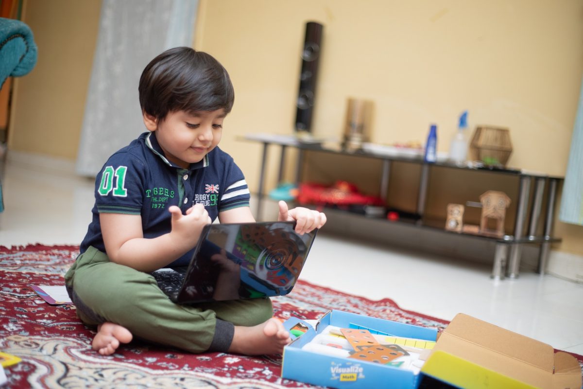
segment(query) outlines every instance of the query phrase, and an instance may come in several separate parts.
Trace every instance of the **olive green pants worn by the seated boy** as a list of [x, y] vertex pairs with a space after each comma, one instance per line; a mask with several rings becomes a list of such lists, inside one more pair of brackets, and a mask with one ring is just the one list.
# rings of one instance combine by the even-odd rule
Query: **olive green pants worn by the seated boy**
[[273, 315], [268, 298], [175, 304], [153, 276], [111, 262], [89, 247], [65, 274], [77, 315], [87, 325], [122, 325], [134, 337], [185, 351], [227, 351], [234, 325], [252, 326]]

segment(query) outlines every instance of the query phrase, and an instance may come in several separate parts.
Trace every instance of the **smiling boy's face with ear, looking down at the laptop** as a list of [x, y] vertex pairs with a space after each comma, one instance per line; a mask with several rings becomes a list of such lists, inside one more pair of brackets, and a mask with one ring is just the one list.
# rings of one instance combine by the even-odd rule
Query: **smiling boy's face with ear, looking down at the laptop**
[[219, 144], [223, 134], [223, 109], [196, 114], [174, 111], [163, 121], [146, 113], [144, 124], [149, 131], [156, 131], [156, 139], [170, 162], [183, 169], [199, 162]]

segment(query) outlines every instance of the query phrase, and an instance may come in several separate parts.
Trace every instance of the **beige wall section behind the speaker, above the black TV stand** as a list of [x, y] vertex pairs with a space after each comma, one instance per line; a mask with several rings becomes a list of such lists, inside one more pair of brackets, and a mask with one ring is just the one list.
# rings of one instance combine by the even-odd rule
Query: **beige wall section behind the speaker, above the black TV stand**
[[566, 170], [583, 70], [581, 1], [202, 4], [196, 47], [219, 58], [236, 87], [227, 132], [292, 131], [303, 26], [317, 20], [325, 30], [315, 135], [339, 138], [346, 99], [356, 96], [374, 101], [374, 142], [424, 143], [436, 122], [447, 152], [468, 109], [472, 129], [510, 128], [511, 166]]

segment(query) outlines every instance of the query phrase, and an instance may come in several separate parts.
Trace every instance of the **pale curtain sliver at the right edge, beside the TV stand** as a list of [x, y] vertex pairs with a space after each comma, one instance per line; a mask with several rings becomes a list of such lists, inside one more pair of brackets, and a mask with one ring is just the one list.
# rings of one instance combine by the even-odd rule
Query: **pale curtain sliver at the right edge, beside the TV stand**
[[559, 212], [561, 222], [583, 225], [583, 83]]

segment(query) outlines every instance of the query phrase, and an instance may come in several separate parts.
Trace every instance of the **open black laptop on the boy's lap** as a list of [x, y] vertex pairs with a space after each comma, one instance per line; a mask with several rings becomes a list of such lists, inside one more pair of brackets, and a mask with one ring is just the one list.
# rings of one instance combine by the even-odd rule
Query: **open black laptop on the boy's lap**
[[152, 273], [175, 303], [283, 296], [296, 285], [317, 229], [295, 222], [206, 225], [188, 267]]

